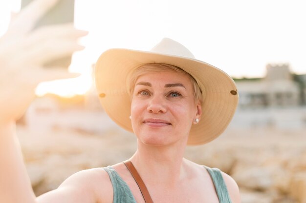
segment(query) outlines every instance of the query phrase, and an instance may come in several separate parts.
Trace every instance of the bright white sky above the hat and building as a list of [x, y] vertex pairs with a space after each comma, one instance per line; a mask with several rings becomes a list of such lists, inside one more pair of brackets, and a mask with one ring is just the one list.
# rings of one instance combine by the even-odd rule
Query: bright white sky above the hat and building
[[[20, 5], [11, 0], [2, 6], [5, 1], [0, 0], [0, 33], [9, 19], [1, 10]], [[75, 25], [89, 35], [71, 69], [87, 72], [109, 48], [150, 50], [168, 37], [233, 77], [263, 77], [267, 63], [279, 62], [304, 74], [305, 8], [305, 0], [75, 0]], [[85, 89], [88, 77], [83, 76]]]

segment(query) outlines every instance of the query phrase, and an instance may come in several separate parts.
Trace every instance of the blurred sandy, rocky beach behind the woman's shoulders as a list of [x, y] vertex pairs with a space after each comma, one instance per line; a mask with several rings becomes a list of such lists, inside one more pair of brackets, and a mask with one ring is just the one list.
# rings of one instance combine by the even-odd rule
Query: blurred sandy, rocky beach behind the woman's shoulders
[[[77, 171], [122, 162], [136, 149], [135, 136], [115, 126], [97, 134], [19, 125], [18, 136], [36, 195]], [[227, 129], [213, 142], [187, 147], [185, 157], [231, 175], [242, 203], [306, 203], [306, 130]]]

